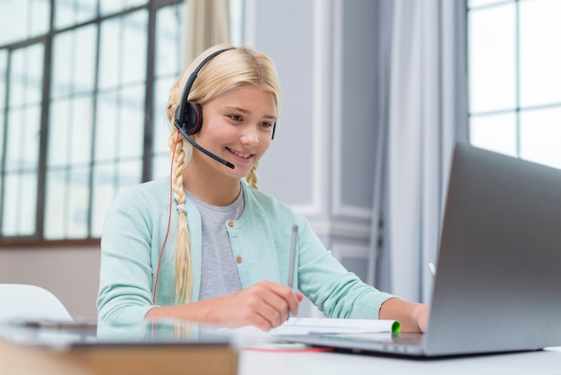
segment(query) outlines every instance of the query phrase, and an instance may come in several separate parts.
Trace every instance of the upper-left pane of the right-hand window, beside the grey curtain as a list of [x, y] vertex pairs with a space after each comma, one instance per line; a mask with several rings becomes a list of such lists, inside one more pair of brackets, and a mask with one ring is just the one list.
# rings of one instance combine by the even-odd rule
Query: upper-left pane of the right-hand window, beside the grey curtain
[[469, 14], [470, 111], [514, 109], [515, 4]]

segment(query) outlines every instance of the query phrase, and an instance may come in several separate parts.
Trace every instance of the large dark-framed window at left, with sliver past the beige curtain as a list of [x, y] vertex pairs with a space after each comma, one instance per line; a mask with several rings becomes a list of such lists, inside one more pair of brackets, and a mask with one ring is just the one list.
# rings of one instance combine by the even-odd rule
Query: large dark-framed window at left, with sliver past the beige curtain
[[[242, 3], [230, 5], [239, 43]], [[0, 239], [97, 239], [119, 192], [168, 173], [165, 103], [184, 66], [186, 4], [2, 7]]]

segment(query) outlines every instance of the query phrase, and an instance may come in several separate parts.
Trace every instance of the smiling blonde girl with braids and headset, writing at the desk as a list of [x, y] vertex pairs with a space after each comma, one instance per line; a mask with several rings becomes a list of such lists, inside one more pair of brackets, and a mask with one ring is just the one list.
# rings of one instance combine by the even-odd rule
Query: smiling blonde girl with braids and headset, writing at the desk
[[[297, 315], [306, 295], [330, 318], [425, 329], [427, 305], [360, 281], [305, 218], [257, 189], [279, 105], [276, 69], [263, 53], [220, 45], [195, 59], [169, 94], [170, 178], [128, 190], [108, 211], [100, 322], [179, 318], [269, 330]], [[297, 291], [286, 285], [295, 224]]]

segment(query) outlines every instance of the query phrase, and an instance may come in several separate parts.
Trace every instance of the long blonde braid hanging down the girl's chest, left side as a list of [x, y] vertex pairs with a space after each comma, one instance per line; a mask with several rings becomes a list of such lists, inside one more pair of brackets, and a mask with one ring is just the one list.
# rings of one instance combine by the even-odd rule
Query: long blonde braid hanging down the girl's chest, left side
[[[176, 144], [177, 143], [177, 144]], [[176, 148], [173, 160], [172, 188], [177, 205], [183, 205], [186, 200], [183, 188], [183, 169], [185, 168], [186, 153], [183, 147], [184, 138], [177, 133], [169, 136], [169, 147]], [[189, 249], [189, 231], [187, 230], [187, 216], [185, 211], [179, 211], [177, 218], [176, 242], [176, 301], [188, 302], [191, 299], [191, 285], [193, 273], [191, 269], [191, 253]]]

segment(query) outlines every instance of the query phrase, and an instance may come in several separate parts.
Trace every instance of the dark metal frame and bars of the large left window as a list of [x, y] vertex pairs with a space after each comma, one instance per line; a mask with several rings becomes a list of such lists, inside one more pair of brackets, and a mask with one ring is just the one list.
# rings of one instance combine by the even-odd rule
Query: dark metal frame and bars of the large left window
[[[14, 42], [8, 42], [4, 45], [0, 45], [0, 49], [7, 51], [7, 65], [6, 65], [6, 77], [10, 74], [10, 60], [11, 54], [14, 50], [20, 48], [27, 48], [35, 44], [42, 44], [44, 48], [44, 60], [42, 66], [42, 86], [41, 86], [41, 99], [40, 99], [40, 120], [39, 120], [39, 155], [37, 163], [37, 208], [36, 208], [36, 220], [35, 220], [35, 231], [31, 235], [16, 235], [16, 236], [6, 236], [2, 231], [0, 231], [0, 249], [6, 248], [49, 248], [49, 247], [75, 247], [82, 245], [99, 245], [99, 237], [92, 235], [92, 204], [91, 195], [93, 193], [94, 180], [90, 179], [88, 182], [89, 186], [89, 213], [88, 213], [88, 223], [87, 223], [87, 237], [80, 239], [46, 239], [45, 238], [45, 210], [46, 210], [46, 191], [47, 191], [47, 147], [48, 147], [48, 133], [49, 133], [49, 115], [50, 115], [50, 104], [51, 104], [51, 83], [52, 83], [52, 64], [54, 62], [54, 39], [56, 35], [79, 30], [80, 28], [89, 26], [91, 24], [96, 24], [98, 38], [96, 40], [97, 46], [95, 47], [96, 54], [96, 72], [99, 71], [99, 33], [101, 24], [109, 19], [123, 18], [128, 14], [141, 11], [143, 9], [148, 11], [148, 28], [146, 35], [146, 72], [145, 72], [145, 92], [143, 101], [144, 110], [144, 123], [143, 123], [143, 141], [142, 141], [142, 182], [151, 179], [152, 176], [152, 161], [154, 157], [152, 138], [153, 134], [153, 109], [154, 109], [154, 86], [155, 86], [155, 48], [156, 48], [156, 18], [157, 13], [161, 8], [166, 6], [182, 4], [184, 0], [147, 0], [145, 4], [131, 6], [129, 8], [123, 9], [121, 11], [110, 13], [110, 14], [100, 14], [99, 13], [99, 2], [97, 2], [97, 16], [91, 18], [86, 22], [77, 22], [71, 26], [56, 29], [55, 27], [55, 0], [50, 0], [50, 18], [48, 21], [48, 30], [46, 33], [31, 37], [29, 39], [17, 40]], [[6, 81], [5, 91], [9, 91], [9, 81]], [[99, 89], [94, 88], [91, 96], [94, 100], [93, 113], [96, 111], [96, 96], [98, 95]], [[0, 120], [4, 121], [4, 124], [0, 126], [0, 130], [7, 134], [6, 125], [8, 119], [6, 114], [8, 113], [8, 95], [5, 98], [5, 106], [0, 106], [0, 109], [4, 111], [4, 117], [0, 117]], [[0, 149], [2, 153], [6, 153], [6, 137], [3, 135], [2, 142], [4, 142], [4, 147]], [[91, 144], [93, 145], [95, 141], [95, 135], [92, 135]], [[5, 175], [5, 158], [2, 157], [2, 165], [0, 165], [0, 178], [4, 180]], [[93, 169], [95, 164], [94, 160], [90, 161], [90, 168]], [[21, 172], [18, 172], [21, 173]], [[90, 171], [92, 174], [92, 172]], [[0, 228], [3, 228], [3, 218], [4, 218], [4, 184], [0, 185]]]

